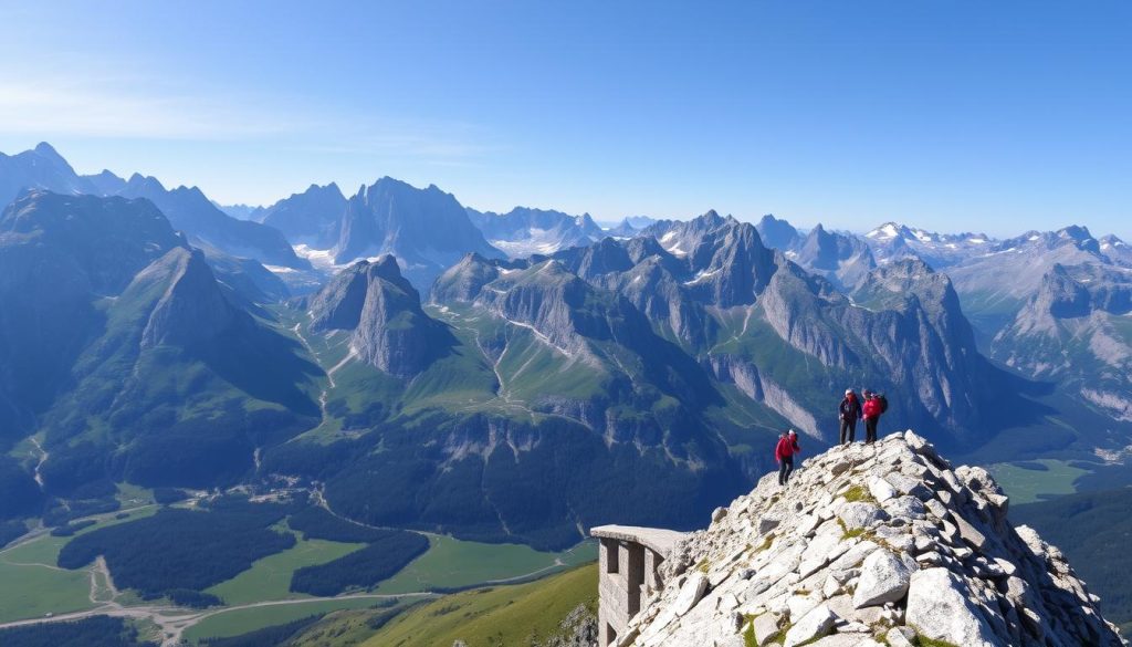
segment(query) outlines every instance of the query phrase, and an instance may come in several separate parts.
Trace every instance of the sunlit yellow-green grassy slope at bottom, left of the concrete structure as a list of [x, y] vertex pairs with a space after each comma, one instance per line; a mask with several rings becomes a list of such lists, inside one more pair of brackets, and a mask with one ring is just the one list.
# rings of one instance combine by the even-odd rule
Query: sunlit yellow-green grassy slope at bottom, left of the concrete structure
[[393, 620], [362, 645], [432, 647], [457, 639], [469, 647], [487, 647], [489, 640], [525, 645], [531, 636], [552, 636], [578, 604], [597, 610], [597, 596], [598, 568], [589, 564], [525, 585], [443, 597]]

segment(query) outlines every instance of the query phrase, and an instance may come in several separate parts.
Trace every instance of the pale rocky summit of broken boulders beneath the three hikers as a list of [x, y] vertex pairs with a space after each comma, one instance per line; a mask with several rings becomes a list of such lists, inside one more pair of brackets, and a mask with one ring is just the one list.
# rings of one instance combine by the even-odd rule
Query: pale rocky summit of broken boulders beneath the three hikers
[[981, 468], [906, 432], [807, 459], [718, 509], [617, 645], [1124, 645]]

